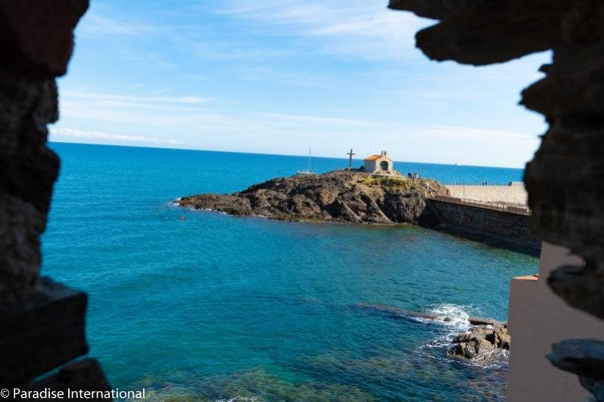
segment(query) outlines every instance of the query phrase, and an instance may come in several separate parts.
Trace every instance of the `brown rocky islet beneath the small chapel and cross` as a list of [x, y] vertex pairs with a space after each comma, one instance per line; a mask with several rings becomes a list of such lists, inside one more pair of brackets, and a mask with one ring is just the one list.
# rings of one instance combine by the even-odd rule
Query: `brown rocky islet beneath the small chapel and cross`
[[425, 197], [444, 194], [440, 183], [407, 177], [372, 177], [359, 171], [272, 179], [231, 195], [201, 194], [178, 200], [181, 206], [231, 215], [346, 223], [415, 223]]

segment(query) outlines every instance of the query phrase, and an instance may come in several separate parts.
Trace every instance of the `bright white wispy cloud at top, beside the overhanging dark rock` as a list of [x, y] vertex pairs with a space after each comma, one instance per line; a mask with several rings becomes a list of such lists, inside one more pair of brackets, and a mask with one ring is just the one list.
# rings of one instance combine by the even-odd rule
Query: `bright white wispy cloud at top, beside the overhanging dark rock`
[[[425, 20], [410, 13], [394, 13], [385, 5], [367, 1], [330, 2], [231, 0], [219, 13], [261, 22], [269, 31], [314, 40], [321, 53], [348, 54], [368, 59], [416, 57], [414, 33]], [[265, 32], [266, 34], [266, 32]]]

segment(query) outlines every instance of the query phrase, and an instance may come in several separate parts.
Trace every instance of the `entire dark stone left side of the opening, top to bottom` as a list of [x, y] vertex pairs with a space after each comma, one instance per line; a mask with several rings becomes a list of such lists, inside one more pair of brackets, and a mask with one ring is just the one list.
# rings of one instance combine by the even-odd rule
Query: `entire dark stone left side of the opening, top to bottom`
[[[59, 118], [55, 78], [66, 72], [73, 30], [88, 0], [0, 0], [0, 386], [98, 389], [88, 352], [86, 295], [39, 278], [59, 158], [47, 125]], [[43, 384], [43, 386], [41, 385]]]

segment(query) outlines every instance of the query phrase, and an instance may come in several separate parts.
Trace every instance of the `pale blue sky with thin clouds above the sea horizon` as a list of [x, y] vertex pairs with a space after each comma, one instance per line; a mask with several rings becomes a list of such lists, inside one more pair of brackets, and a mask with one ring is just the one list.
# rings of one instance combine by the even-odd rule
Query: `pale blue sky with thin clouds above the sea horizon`
[[476, 68], [415, 48], [386, 0], [92, 0], [51, 141], [524, 167], [550, 53]]

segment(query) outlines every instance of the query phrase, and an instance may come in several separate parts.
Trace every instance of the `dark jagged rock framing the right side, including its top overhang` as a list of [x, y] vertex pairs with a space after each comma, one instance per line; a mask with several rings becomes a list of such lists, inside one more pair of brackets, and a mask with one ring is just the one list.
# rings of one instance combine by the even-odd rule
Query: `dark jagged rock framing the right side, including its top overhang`
[[[486, 65], [553, 50], [545, 77], [522, 92], [521, 103], [550, 125], [525, 170], [528, 205], [542, 240], [585, 259], [559, 267], [549, 286], [604, 319], [604, 2], [390, 0], [390, 8], [440, 20], [416, 36], [431, 59]], [[565, 349], [569, 358], [576, 353], [561, 343], [557, 359]], [[596, 386], [604, 389], [604, 380], [585, 388], [598, 397]]]

